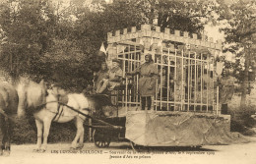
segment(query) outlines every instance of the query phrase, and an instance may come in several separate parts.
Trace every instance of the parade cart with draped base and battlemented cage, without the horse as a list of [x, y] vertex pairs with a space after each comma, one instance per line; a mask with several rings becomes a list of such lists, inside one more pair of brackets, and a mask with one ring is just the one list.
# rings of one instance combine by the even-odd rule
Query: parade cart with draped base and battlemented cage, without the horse
[[[109, 32], [107, 39], [109, 67], [112, 59], [120, 60], [125, 77], [140, 67], [146, 53], [151, 53], [159, 79], [149, 111], [140, 107], [139, 75], [126, 78], [124, 89], [112, 91], [118, 95], [112, 97], [118, 106], [111, 116], [114, 126], [93, 126], [96, 146], [106, 147], [117, 136], [144, 146], [197, 146], [232, 139], [230, 117], [220, 112], [215, 84], [215, 59], [222, 52], [221, 41], [214, 43], [205, 35], [199, 38], [195, 33], [169, 28], [160, 31], [160, 27], [150, 25]], [[121, 125], [114, 119], [121, 120]]]

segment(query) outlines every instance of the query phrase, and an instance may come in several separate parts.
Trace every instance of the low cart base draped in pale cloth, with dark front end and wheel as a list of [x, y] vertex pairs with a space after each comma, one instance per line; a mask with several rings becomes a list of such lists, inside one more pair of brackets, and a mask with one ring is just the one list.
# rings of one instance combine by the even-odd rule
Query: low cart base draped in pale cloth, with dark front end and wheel
[[137, 146], [226, 144], [233, 139], [228, 134], [229, 117], [213, 114], [130, 111], [126, 117], [111, 118], [106, 123], [92, 126], [93, 140], [100, 148], [108, 147], [111, 140], [130, 141], [136, 149]]

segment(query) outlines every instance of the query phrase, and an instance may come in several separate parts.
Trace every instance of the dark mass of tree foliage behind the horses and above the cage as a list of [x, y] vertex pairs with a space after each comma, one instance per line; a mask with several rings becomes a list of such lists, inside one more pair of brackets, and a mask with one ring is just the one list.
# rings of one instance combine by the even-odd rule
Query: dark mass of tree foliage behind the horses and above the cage
[[83, 5], [72, 0], [64, 7], [61, 1], [7, 0], [0, 9], [0, 25], [7, 36], [1, 46], [1, 67], [14, 78], [29, 74], [35, 81], [58, 82], [81, 91], [99, 68], [96, 53], [101, 42], [106, 43], [108, 31], [158, 19], [162, 29], [199, 32], [205, 24], [200, 19], [211, 20], [214, 8], [211, 1], [118, 0]]

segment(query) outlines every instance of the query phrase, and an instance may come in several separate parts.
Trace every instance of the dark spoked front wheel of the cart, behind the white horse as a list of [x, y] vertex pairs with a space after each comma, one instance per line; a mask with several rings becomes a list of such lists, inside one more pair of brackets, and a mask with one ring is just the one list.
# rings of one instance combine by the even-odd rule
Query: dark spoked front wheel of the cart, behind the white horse
[[111, 137], [109, 137], [105, 131], [103, 130], [94, 130], [93, 139], [95, 145], [99, 148], [108, 147], [111, 141]]

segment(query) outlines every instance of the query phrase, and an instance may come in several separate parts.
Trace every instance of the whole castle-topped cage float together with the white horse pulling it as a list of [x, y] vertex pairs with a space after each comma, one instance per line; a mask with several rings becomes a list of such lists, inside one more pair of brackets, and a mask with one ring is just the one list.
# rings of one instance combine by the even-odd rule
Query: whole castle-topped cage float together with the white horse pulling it
[[[113, 59], [121, 61], [123, 77], [123, 82], [109, 95], [115, 104], [115, 108], [109, 108], [109, 117], [98, 119], [92, 114], [99, 109], [98, 104], [103, 104], [99, 98], [83, 93], [66, 94], [58, 87], [47, 92], [44, 82], [24, 80], [18, 85], [18, 113], [25, 113], [26, 107], [36, 108], [28, 110], [37, 128], [36, 151], [46, 150], [53, 121], [75, 120], [77, 134], [71, 148], [82, 148], [87, 118], [93, 120], [93, 124], [89, 124], [91, 137], [98, 147], [109, 146], [114, 137], [131, 141], [133, 147], [195, 146], [228, 143], [233, 139], [229, 133], [230, 116], [222, 115], [219, 109], [216, 85], [217, 73], [222, 72], [216, 61], [222, 42], [214, 43], [204, 35], [198, 38], [197, 34], [169, 28], [160, 31], [160, 27], [149, 25], [140, 29], [124, 28], [122, 32], [116, 30], [114, 34], [109, 32], [107, 39], [107, 65], [111, 67]], [[150, 97], [151, 109], [141, 110], [140, 76], [127, 78], [125, 75], [140, 68], [147, 53], [152, 54], [158, 70], [154, 74], [159, 76], [156, 88], [151, 87], [156, 89], [156, 95]]]

